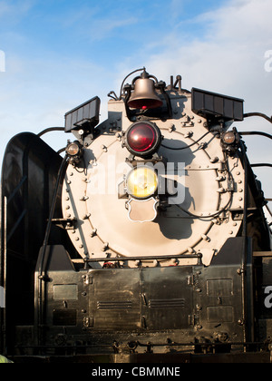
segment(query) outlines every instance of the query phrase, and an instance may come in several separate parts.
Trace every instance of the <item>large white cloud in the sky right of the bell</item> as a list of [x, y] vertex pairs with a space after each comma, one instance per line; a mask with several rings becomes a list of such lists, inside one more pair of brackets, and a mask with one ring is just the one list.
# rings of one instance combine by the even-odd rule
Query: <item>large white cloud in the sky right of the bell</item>
[[[271, 0], [229, 1], [170, 31], [164, 38], [164, 48], [144, 64], [164, 81], [170, 74], [181, 74], [185, 88], [199, 87], [239, 97], [245, 100], [245, 112], [270, 116], [272, 72], [266, 70], [266, 52], [272, 50], [271, 14]], [[201, 27], [203, 34], [190, 37], [186, 34], [189, 25]], [[245, 119], [237, 127], [240, 131], [272, 131], [269, 122], [258, 118]], [[251, 161], [271, 162], [271, 141], [245, 139]], [[266, 173], [260, 180], [271, 198], [271, 169], [256, 172], [262, 177]]]

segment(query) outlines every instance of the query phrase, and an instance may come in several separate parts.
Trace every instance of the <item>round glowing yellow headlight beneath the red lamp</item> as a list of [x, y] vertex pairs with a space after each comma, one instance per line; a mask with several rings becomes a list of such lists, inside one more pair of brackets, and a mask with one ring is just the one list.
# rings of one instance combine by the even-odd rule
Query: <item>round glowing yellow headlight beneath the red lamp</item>
[[127, 192], [135, 199], [148, 199], [158, 189], [158, 175], [148, 166], [135, 167], [128, 174]]

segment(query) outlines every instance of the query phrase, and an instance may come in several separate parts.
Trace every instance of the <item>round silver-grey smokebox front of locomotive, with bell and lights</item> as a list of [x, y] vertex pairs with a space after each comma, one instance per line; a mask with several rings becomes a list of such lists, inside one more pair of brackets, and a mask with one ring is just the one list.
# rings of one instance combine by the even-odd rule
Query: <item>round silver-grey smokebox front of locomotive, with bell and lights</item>
[[[92, 139], [76, 131], [83, 158], [66, 171], [63, 216], [81, 221], [68, 230], [70, 239], [98, 268], [111, 259], [126, 268], [196, 265], [199, 256], [209, 266], [241, 227], [243, 165], [236, 142], [226, 143], [231, 155], [221, 147], [238, 134], [210, 127], [192, 111], [191, 93], [151, 78], [144, 71], [134, 91], [127, 85], [109, 102], [109, 119]], [[201, 95], [193, 93], [195, 103]], [[221, 101], [242, 115], [242, 101]]]

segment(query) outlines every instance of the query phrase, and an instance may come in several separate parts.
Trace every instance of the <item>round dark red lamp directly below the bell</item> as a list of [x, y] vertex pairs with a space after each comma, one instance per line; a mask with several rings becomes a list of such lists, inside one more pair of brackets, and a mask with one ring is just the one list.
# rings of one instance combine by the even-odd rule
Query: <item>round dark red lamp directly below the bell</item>
[[136, 156], [155, 152], [161, 141], [160, 129], [151, 122], [136, 122], [125, 133], [125, 145]]

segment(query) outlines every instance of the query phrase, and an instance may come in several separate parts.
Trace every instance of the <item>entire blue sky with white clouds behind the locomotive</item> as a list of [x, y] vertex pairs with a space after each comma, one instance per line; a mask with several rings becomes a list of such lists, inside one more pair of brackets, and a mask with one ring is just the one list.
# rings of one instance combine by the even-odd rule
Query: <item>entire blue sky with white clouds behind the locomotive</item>
[[[271, 0], [0, 0], [0, 163], [16, 133], [63, 126], [65, 112], [95, 95], [105, 118], [107, 93], [142, 66], [271, 115], [271, 14]], [[271, 132], [256, 120], [238, 128]], [[48, 139], [59, 149], [69, 137]], [[250, 139], [252, 161], [271, 161], [270, 142]]]

